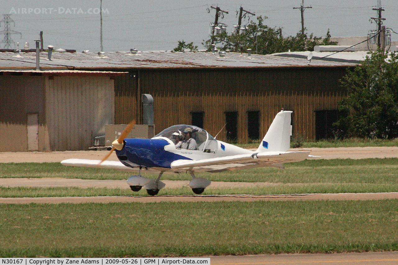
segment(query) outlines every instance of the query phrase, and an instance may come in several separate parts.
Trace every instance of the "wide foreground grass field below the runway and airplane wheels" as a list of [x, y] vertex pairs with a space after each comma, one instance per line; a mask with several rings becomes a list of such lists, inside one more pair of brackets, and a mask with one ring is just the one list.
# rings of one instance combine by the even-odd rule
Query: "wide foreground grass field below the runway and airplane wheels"
[[1, 257], [398, 250], [398, 200], [0, 205]]

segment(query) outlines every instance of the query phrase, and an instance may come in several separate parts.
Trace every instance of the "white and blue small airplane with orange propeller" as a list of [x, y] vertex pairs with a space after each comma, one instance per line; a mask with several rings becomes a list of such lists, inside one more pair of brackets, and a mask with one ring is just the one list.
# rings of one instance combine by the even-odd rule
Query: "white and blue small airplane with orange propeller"
[[[144, 187], [149, 195], [158, 194], [165, 187], [160, 177], [164, 172], [188, 172], [192, 179], [189, 187], [201, 194], [211, 181], [195, 177], [195, 172], [221, 172], [272, 166], [283, 169], [283, 163], [298, 162], [312, 157], [309, 151], [287, 152], [290, 148], [291, 113], [277, 113], [256, 151], [216, 140], [207, 131], [191, 125], [171, 126], [151, 139], [126, 138], [135, 125], [127, 125], [112, 149], [100, 160], [67, 159], [65, 166], [85, 166], [139, 171], [127, 179], [131, 190]], [[105, 161], [116, 150], [119, 161]], [[141, 176], [141, 170], [160, 172], [156, 179]]]

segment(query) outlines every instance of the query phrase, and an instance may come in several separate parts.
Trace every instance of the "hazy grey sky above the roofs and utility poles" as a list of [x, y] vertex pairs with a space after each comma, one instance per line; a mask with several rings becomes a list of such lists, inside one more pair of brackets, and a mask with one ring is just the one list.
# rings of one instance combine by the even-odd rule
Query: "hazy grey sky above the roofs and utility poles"
[[[103, 0], [103, 48], [104, 51], [140, 51], [170, 50], [177, 46], [178, 40], [193, 42], [203, 48], [201, 43], [208, 39], [209, 23], [214, 22], [215, 10], [210, 6], [219, 5], [228, 10], [219, 22], [228, 25], [231, 32], [237, 24], [236, 10], [256, 12], [257, 16], [267, 16], [265, 24], [269, 27], [282, 27], [283, 35], [296, 35], [301, 30], [301, 0], [243, 0], [215, 3], [199, 1], [109, 1]], [[398, 32], [398, 2], [382, 0], [384, 25]], [[304, 12], [304, 26], [308, 33], [323, 37], [328, 28], [332, 37], [366, 36], [370, 29], [376, 29], [370, 23], [371, 17], [377, 17], [372, 10], [377, 0], [342, 1], [342, 0], [304, 0], [304, 6], [312, 6]], [[39, 31], [43, 31], [44, 45], [55, 48], [76, 49], [77, 51], [100, 50], [100, 0], [92, 1], [53, 1], [11, 0], [0, 7], [1, 14], [11, 14], [15, 22], [10, 24], [14, 31], [15, 42], [29, 42], [34, 47]], [[210, 13], [207, 12], [210, 9]], [[251, 20], [257, 21], [255, 16]], [[247, 23], [248, 18], [243, 23]], [[242, 23], [242, 24], [243, 24]], [[4, 23], [0, 24], [4, 29]], [[2, 36], [0, 36], [2, 38]], [[398, 41], [398, 34], [392, 33], [392, 40]], [[4, 44], [1, 45], [1, 48]]]

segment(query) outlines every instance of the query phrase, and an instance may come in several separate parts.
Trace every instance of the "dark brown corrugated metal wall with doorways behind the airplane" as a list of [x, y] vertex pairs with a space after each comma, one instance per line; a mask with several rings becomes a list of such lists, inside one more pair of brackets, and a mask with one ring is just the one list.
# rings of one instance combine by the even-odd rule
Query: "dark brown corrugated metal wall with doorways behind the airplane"
[[[260, 111], [262, 137], [284, 108], [294, 111], [294, 135], [315, 140], [314, 111], [338, 109], [346, 94], [338, 81], [344, 74], [345, 68], [336, 66], [140, 70], [117, 82], [115, 121], [128, 123], [138, 116], [133, 104], [137, 94], [145, 93], [154, 97], [157, 133], [174, 124], [189, 124], [190, 112], [203, 111], [203, 127], [215, 135], [225, 124], [225, 112], [237, 111], [238, 142], [246, 142], [247, 111]], [[224, 140], [225, 132], [217, 138]]]

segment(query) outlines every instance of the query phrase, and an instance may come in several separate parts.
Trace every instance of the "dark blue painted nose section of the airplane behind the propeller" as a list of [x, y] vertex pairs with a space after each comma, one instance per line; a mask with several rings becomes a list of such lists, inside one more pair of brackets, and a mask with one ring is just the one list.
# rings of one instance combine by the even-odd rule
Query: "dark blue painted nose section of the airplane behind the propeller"
[[116, 155], [125, 166], [130, 166], [121, 158], [126, 157], [134, 164], [142, 167], [170, 168], [170, 164], [179, 159], [191, 160], [185, 156], [174, 154], [164, 150], [164, 146], [170, 144], [163, 139], [125, 139], [125, 147], [116, 150]]

